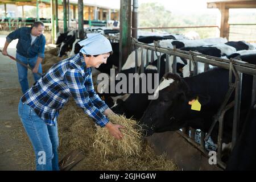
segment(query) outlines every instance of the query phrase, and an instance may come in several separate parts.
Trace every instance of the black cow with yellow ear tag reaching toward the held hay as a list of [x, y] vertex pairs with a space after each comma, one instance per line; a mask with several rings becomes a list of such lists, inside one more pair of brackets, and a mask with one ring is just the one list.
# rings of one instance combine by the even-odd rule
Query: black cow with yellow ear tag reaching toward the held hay
[[[193, 127], [208, 132], [213, 115], [217, 113], [229, 86], [229, 71], [214, 68], [193, 77], [180, 78], [178, 75], [164, 75], [162, 89], [157, 100], [152, 100], [141, 118], [145, 135], [163, 131], [175, 131], [181, 127]], [[252, 76], [243, 75], [241, 118], [246, 114], [251, 101]], [[161, 87], [161, 84], [159, 87]], [[166, 87], [163, 87], [166, 84]], [[201, 111], [191, 110], [189, 101], [199, 100]], [[230, 101], [234, 100], [234, 93]], [[229, 101], [229, 102], [230, 102]], [[225, 115], [224, 131], [232, 131], [233, 109]], [[214, 127], [212, 139], [217, 142], [218, 125]], [[223, 142], [231, 140], [229, 132], [224, 132]]]

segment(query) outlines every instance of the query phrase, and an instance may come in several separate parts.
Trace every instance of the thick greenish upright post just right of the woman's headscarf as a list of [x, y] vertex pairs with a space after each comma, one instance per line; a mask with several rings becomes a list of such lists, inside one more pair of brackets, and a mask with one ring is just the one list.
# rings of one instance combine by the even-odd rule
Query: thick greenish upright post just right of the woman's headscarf
[[119, 71], [131, 49], [131, 0], [120, 0]]

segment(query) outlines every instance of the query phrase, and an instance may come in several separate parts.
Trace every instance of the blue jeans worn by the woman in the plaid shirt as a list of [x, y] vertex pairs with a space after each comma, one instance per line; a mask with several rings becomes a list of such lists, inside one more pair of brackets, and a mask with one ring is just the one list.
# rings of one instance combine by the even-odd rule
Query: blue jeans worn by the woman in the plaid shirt
[[49, 126], [32, 107], [19, 101], [18, 113], [36, 155], [36, 170], [59, 170], [59, 137], [56, 126]]

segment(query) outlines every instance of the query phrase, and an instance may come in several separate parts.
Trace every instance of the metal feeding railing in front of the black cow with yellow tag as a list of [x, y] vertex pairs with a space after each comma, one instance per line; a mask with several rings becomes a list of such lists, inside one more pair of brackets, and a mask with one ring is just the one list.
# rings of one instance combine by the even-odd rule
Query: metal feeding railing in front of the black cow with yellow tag
[[[213, 127], [216, 125], [216, 123], [219, 123], [219, 129], [218, 129], [218, 141], [217, 141], [217, 164], [221, 168], [225, 169], [226, 164], [222, 162], [221, 160], [221, 153], [222, 153], [222, 137], [223, 137], [223, 127], [224, 127], [224, 115], [226, 111], [234, 107], [234, 116], [233, 116], [233, 132], [232, 132], [232, 148], [236, 144], [237, 137], [238, 137], [238, 123], [240, 121], [240, 105], [241, 105], [241, 90], [242, 90], [242, 77], [243, 74], [248, 74], [253, 76], [253, 90], [252, 90], [252, 97], [251, 97], [251, 104], [253, 104], [256, 101], [256, 65], [254, 64], [248, 64], [248, 63], [242, 63], [239, 60], [227, 60], [227, 59], [221, 59], [214, 56], [208, 56], [203, 55], [198, 52], [192, 52], [192, 51], [182, 51], [179, 49], [172, 49], [172, 48], [166, 48], [166, 47], [159, 47], [157, 43], [155, 43], [155, 46], [150, 46], [148, 44], [140, 43], [137, 41], [137, 39], [132, 40], [133, 47], [135, 49], [135, 65], [138, 65], [138, 56], [141, 56], [141, 69], [139, 67], [135, 66], [135, 72], [143, 72], [144, 65], [147, 65], [149, 61], [154, 61], [154, 54], [160, 55], [161, 53], [166, 54], [166, 72], [169, 72], [169, 57], [174, 56], [174, 62], [172, 64], [173, 73], [176, 73], [176, 57], [182, 57], [184, 59], [189, 59], [190, 63], [194, 65], [194, 72], [193, 75], [197, 74], [197, 62], [205, 63], [205, 71], [209, 69], [208, 65], [211, 64], [213, 66], [217, 66], [220, 68], [228, 69], [229, 70], [229, 90], [226, 93], [225, 101], [222, 103], [220, 109], [218, 109], [218, 112], [216, 115], [214, 115], [214, 120], [212, 122], [212, 126], [210, 126], [210, 129], [205, 136], [205, 133], [201, 131], [201, 139], [200, 144], [195, 142], [195, 129], [188, 129], [184, 128], [182, 129], [182, 133], [180, 131], [177, 131], [182, 137], [184, 137], [189, 143], [193, 144], [196, 148], [198, 148], [205, 156], [208, 156], [207, 151], [205, 150], [205, 142], [208, 140], [210, 134], [212, 133]], [[141, 48], [141, 55], [138, 55], [138, 48]], [[143, 60], [143, 49], [147, 52], [146, 60]], [[151, 58], [148, 56], [148, 51], [151, 51]], [[158, 59], [158, 73], [160, 72], [160, 56], [157, 56]], [[146, 62], [145, 62], [146, 61]], [[190, 64], [190, 65], [191, 65]], [[189, 71], [191, 71], [191, 67], [189, 68]], [[235, 81], [232, 82], [232, 76], [235, 75]], [[228, 104], [229, 98], [231, 97], [231, 94], [235, 90], [235, 96], [234, 101], [230, 102]], [[189, 137], [189, 130], [191, 131], [191, 137]]]

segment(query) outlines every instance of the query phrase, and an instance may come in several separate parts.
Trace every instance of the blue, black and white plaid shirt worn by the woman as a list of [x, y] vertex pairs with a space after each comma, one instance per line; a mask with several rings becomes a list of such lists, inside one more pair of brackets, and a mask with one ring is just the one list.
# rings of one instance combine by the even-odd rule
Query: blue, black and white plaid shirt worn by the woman
[[104, 127], [109, 119], [102, 114], [108, 105], [96, 94], [90, 68], [86, 68], [84, 56], [78, 53], [60, 61], [48, 70], [21, 100], [31, 106], [48, 125], [55, 125], [59, 110], [72, 96], [84, 112]]

